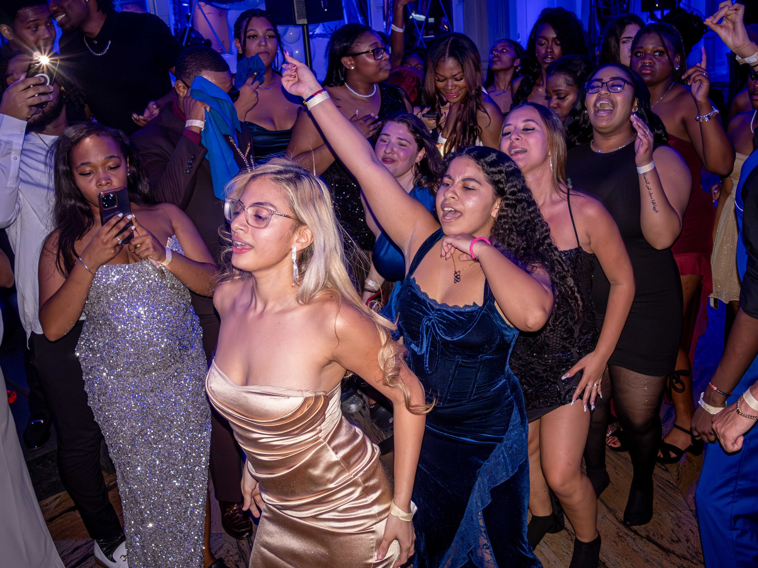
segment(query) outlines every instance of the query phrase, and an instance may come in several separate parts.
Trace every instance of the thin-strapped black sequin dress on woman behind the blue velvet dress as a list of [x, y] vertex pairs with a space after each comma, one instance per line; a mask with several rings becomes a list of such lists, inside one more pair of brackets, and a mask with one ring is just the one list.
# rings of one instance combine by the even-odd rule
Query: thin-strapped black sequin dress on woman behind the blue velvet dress
[[571, 190], [566, 195], [568, 213], [574, 226], [576, 248], [559, 251], [571, 273], [581, 298], [581, 314], [556, 297], [553, 313], [538, 332], [521, 332], [511, 354], [511, 369], [521, 382], [529, 422], [551, 410], [571, 403], [582, 372], [562, 380], [563, 374], [581, 357], [594, 351], [600, 335], [592, 302], [592, 274], [595, 255], [581, 248], [571, 211]]

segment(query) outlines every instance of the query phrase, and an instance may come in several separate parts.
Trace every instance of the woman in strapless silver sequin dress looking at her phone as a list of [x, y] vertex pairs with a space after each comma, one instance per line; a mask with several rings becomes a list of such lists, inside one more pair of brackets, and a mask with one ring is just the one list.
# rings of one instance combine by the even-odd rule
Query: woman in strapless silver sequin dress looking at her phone
[[[130, 568], [203, 568], [211, 417], [188, 288], [211, 295], [216, 266], [179, 208], [149, 204], [123, 133], [79, 124], [55, 150], [55, 230], [39, 262], [42, 329], [55, 341], [86, 316], [77, 356], [116, 466]], [[99, 194], [122, 186], [131, 214], [101, 226]]]

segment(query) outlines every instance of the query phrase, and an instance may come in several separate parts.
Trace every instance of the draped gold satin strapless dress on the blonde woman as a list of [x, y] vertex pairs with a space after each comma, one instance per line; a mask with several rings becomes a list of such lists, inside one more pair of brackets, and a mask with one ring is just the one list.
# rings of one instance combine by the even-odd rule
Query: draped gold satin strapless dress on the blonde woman
[[340, 410], [331, 392], [240, 386], [215, 364], [205, 377], [211, 404], [229, 420], [265, 502], [250, 568], [390, 568], [377, 548], [392, 490], [379, 449]]

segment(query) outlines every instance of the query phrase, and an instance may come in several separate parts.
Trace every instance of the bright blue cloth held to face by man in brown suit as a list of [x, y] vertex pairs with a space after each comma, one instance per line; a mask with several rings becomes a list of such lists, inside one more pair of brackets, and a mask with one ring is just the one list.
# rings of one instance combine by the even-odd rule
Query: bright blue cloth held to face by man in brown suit
[[211, 166], [213, 195], [219, 199], [226, 198], [224, 188], [227, 183], [240, 173], [234, 159], [234, 153], [227, 142], [227, 136], [238, 142], [236, 133], [240, 132], [240, 119], [227, 92], [211, 83], [205, 77], [196, 76], [189, 88], [189, 94], [196, 101], [204, 102], [210, 107], [205, 111], [205, 128], [202, 129], [202, 145], [208, 148], [208, 164]]

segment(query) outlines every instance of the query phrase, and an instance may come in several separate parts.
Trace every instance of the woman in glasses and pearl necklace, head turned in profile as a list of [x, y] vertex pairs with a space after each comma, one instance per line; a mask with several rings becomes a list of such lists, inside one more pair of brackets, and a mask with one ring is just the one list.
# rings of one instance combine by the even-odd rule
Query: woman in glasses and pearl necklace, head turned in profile
[[[390, 76], [389, 46], [374, 30], [348, 23], [334, 32], [327, 46], [324, 88], [340, 111], [371, 139], [381, 121], [398, 112], [411, 112], [406, 92], [384, 83]], [[308, 112], [301, 112], [287, 147], [306, 170], [315, 171], [332, 190], [334, 210], [343, 228], [364, 251], [374, 247], [374, 233], [366, 224], [361, 189], [332, 153]]]

